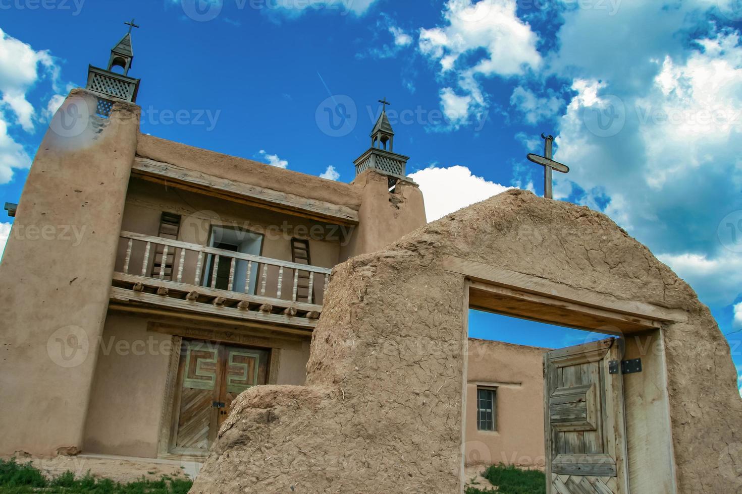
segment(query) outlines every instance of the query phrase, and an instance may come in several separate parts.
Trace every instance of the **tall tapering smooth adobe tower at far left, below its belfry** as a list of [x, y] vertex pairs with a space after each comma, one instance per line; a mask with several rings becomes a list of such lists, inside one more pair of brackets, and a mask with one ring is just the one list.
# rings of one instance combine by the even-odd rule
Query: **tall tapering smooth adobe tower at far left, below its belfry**
[[82, 449], [139, 107], [72, 90], [33, 160], [0, 264], [0, 454]]

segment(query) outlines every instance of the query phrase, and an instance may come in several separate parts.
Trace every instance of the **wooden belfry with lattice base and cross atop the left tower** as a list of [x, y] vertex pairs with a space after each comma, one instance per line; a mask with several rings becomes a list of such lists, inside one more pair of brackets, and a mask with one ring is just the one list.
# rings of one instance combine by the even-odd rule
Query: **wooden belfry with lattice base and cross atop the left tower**
[[[88, 67], [88, 84], [86, 89], [97, 93], [98, 107], [96, 113], [100, 116], [108, 117], [111, 113], [111, 107], [116, 101], [128, 101], [134, 103], [137, 101], [139, 93], [139, 81], [128, 76], [131, 69], [131, 61], [134, 60], [134, 50], [131, 47], [131, 30], [139, 27], [131, 22], [125, 22], [129, 31], [124, 37], [116, 43], [111, 50], [111, 59], [108, 61], [108, 68]], [[119, 67], [121, 73], [114, 72], [114, 68]]]

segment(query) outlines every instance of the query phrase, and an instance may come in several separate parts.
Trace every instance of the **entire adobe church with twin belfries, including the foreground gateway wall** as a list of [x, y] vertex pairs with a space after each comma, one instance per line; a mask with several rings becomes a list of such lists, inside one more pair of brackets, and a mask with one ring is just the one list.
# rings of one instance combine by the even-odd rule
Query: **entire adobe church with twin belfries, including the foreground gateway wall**
[[[90, 67], [16, 208], [0, 453], [193, 458], [194, 493], [457, 493], [501, 461], [742, 489], [729, 346], [609, 218], [511, 190], [426, 224], [384, 112], [349, 184], [143, 135], [133, 58]], [[470, 309], [606, 338], [470, 340]]]

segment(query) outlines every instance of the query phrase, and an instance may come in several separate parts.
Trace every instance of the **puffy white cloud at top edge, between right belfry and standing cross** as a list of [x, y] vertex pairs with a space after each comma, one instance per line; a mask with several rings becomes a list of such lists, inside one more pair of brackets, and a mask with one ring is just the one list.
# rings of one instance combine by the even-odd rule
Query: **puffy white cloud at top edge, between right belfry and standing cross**
[[[542, 64], [538, 36], [516, 15], [516, 0], [449, 0], [443, 16], [443, 27], [421, 29], [418, 47], [439, 62], [441, 75], [456, 76], [459, 108], [467, 99], [472, 116], [480, 117], [487, 104], [477, 78], [519, 76]], [[452, 94], [450, 87], [441, 91], [444, 111], [442, 98]]]

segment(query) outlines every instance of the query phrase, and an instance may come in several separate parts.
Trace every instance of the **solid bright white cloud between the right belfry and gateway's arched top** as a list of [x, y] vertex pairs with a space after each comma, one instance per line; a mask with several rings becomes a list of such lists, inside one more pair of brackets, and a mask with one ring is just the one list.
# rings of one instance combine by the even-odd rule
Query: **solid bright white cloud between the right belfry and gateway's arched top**
[[427, 221], [442, 218], [462, 207], [496, 196], [512, 187], [473, 176], [467, 167], [430, 167], [410, 175], [425, 197]]

